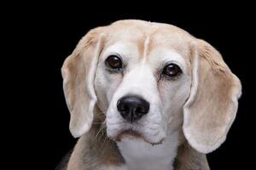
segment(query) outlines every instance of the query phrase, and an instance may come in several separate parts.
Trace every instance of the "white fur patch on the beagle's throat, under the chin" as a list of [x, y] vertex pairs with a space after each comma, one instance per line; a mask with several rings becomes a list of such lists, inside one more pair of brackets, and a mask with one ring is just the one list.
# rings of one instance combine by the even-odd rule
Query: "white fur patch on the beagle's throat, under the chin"
[[148, 144], [143, 139], [124, 138], [117, 143], [130, 170], [172, 170], [177, 156], [178, 133], [172, 133], [161, 144]]

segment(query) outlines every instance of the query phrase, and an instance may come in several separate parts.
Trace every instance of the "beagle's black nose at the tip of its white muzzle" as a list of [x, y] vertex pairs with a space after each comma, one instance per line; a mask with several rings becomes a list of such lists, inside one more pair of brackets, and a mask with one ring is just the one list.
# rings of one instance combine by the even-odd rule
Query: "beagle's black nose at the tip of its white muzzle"
[[137, 96], [125, 96], [117, 103], [118, 111], [125, 120], [135, 122], [149, 111], [149, 103]]

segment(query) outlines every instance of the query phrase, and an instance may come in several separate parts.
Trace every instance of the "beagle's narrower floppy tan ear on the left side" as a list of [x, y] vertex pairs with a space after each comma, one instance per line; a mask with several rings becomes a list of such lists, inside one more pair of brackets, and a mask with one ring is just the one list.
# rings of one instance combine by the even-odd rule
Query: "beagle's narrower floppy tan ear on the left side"
[[89, 31], [61, 68], [64, 94], [70, 111], [69, 129], [77, 138], [86, 133], [93, 121], [96, 104], [94, 78], [101, 48], [103, 27]]

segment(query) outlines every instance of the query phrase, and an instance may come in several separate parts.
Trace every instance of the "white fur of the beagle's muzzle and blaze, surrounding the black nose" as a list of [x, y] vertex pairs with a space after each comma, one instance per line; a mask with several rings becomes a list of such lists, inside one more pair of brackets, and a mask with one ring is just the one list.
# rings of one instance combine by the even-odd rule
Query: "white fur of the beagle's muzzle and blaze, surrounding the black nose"
[[[117, 111], [117, 101], [121, 97], [128, 94], [137, 94], [148, 100], [150, 111], [147, 116], [143, 116], [141, 120], [136, 123], [124, 122], [124, 119]], [[154, 77], [150, 73], [146, 65], [141, 65], [132, 69], [123, 78], [119, 88], [113, 94], [113, 99], [108, 107], [107, 112], [107, 130], [108, 135], [116, 136], [120, 130], [133, 129], [137, 132], [143, 133], [144, 138], [153, 143], [160, 142], [165, 134], [166, 127], [161, 123], [162, 116], [160, 111], [160, 99], [158, 97], [156, 83]]]

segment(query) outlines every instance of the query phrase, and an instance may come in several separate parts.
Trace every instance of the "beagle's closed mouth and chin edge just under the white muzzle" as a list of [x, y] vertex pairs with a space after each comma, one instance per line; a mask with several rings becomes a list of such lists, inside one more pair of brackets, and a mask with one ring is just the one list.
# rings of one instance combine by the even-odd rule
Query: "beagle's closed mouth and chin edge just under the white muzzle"
[[161, 139], [149, 139], [143, 133], [139, 133], [132, 129], [127, 129], [119, 132], [115, 137], [112, 138], [116, 142], [120, 142], [122, 139], [143, 139], [148, 144], [156, 145], [162, 144], [164, 138]]

